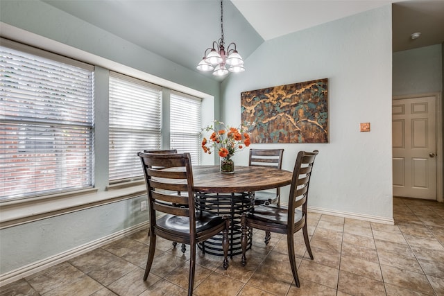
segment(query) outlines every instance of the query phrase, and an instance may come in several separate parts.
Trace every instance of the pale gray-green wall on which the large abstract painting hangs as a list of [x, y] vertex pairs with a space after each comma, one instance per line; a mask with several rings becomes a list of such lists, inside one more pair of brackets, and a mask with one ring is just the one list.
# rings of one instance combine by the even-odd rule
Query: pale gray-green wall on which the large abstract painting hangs
[[[292, 170], [298, 150], [320, 151], [309, 207], [331, 214], [393, 222], [391, 168], [391, 6], [270, 40], [223, 82], [223, 121], [236, 125], [240, 93], [328, 78], [330, 143], [253, 144], [284, 148]], [[370, 122], [370, 132], [359, 123]], [[246, 164], [248, 150], [234, 159]], [[283, 201], [288, 188], [282, 191]]]

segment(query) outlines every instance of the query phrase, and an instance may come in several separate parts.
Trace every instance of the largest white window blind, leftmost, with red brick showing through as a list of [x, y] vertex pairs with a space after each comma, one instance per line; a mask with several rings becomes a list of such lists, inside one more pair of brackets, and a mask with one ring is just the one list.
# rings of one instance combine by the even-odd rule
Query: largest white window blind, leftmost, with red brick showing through
[[94, 67], [1, 44], [0, 200], [93, 186]]

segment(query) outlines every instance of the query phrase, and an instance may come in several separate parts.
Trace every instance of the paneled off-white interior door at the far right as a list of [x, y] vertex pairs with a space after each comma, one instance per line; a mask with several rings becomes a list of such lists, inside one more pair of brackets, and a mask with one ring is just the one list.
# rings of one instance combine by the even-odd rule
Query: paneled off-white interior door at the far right
[[435, 96], [393, 100], [393, 195], [436, 200]]

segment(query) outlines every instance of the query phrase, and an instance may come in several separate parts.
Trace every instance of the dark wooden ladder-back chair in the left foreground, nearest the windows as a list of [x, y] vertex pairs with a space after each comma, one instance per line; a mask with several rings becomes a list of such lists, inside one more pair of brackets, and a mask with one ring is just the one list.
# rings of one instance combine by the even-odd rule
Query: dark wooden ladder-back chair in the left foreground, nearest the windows
[[[150, 211], [150, 245], [144, 281], [153, 264], [157, 236], [190, 246], [188, 295], [194, 287], [196, 245], [222, 232], [223, 268], [228, 268], [229, 218], [194, 206], [194, 182], [191, 156], [183, 154], [137, 153], [144, 169], [148, 209]], [[178, 195], [177, 192], [186, 193]], [[173, 204], [184, 204], [174, 207]]]

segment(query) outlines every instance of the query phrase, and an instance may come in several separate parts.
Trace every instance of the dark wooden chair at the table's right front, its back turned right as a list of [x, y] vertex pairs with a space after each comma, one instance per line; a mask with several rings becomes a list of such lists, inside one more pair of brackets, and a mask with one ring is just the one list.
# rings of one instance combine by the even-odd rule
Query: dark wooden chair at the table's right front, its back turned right
[[[318, 155], [318, 150], [314, 150], [313, 152], [300, 151], [298, 153], [293, 170], [293, 178], [291, 180], [288, 207], [280, 204], [261, 204], [254, 207], [248, 214], [243, 214], [241, 217], [241, 264], [245, 266], [247, 263], [245, 253], [247, 248], [248, 227], [262, 229], [266, 232], [287, 234], [291, 272], [293, 272], [293, 278], [298, 287], [300, 286], [300, 282], [294, 256], [293, 234], [302, 229], [305, 247], [307, 247], [310, 258], [313, 259], [307, 231], [307, 199], [311, 171], [316, 155]], [[300, 209], [301, 206], [302, 209]], [[265, 243], [268, 244], [268, 241]]]

